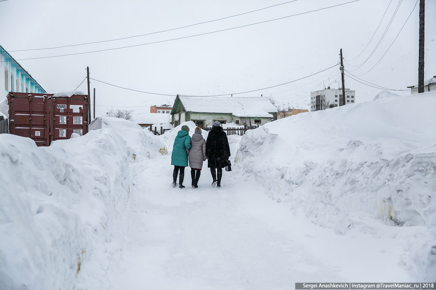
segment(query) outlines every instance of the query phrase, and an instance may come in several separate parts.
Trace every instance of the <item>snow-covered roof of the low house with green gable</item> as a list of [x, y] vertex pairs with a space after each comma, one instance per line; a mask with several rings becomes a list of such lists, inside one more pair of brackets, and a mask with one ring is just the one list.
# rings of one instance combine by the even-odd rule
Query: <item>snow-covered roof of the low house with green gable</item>
[[277, 109], [267, 97], [179, 96], [187, 112], [230, 113], [236, 117], [272, 118]]

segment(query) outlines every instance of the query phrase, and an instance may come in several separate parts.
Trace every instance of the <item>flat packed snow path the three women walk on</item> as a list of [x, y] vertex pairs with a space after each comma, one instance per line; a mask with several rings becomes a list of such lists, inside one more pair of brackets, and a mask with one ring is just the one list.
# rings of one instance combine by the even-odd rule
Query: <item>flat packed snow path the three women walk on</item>
[[369, 234], [336, 235], [269, 199], [251, 177], [224, 172], [223, 186], [211, 187], [206, 164], [198, 189], [190, 186], [188, 168], [186, 188], [173, 188], [169, 164], [168, 155], [134, 165], [129, 235], [121, 261], [108, 273], [113, 289], [292, 289], [304, 281], [408, 280], [398, 265], [403, 245], [394, 239], [395, 227], [372, 222]]

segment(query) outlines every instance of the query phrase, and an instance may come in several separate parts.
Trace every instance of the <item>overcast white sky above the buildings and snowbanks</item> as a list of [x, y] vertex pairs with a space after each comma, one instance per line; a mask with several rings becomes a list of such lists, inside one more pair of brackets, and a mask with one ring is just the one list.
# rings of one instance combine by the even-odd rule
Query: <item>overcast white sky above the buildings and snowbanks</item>
[[[140, 91], [174, 96], [239, 93], [300, 79], [335, 65], [340, 48], [348, 60], [344, 63], [346, 70], [352, 71], [356, 69], [353, 66], [368, 59], [351, 72], [361, 75], [359, 78], [365, 81], [391, 89], [417, 84], [419, 1], [412, 12], [416, 0], [402, 0], [387, 30], [400, 0], [360, 0], [224, 32], [132, 48], [24, 60], [214, 32], [350, 1], [297, 0], [170, 32], [67, 48], [13, 51], [159, 32], [288, 1], [6, 0], [0, 1], [0, 45], [49, 93], [75, 89], [86, 76], [86, 66], [90, 68], [91, 78]], [[436, 75], [436, 1], [427, 0], [425, 5], [425, 79], [429, 79]], [[385, 37], [369, 57], [385, 30]], [[380, 63], [366, 73], [385, 53]], [[310, 92], [327, 87], [329, 82], [332, 88], [340, 87], [339, 66], [301, 81], [237, 96], [262, 94], [280, 103], [308, 109]], [[345, 87], [356, 90], [356, 102], [371, 100], [381, 91], [347, 76]], [[97, 81], [91, 81], [91, 92], [93, 88], [96, 88], [97, 116], [105, 115], [112, 107], [149, 112], [150, 105], [174, 99]], [[79, 89], [86, 93], [86, 82]]]

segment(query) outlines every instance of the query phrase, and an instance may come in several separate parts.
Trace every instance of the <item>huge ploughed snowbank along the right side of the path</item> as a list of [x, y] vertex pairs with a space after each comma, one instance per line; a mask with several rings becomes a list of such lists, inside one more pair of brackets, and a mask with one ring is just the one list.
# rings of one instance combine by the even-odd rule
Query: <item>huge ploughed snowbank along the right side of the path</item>
[[274, 121], [244, 135], [235, 169], [339, 234], [364, 227], [364, 216], [422, 226], [403, 263], [435, 280], [435, 105], [435, 92], [384, 92], [372, 102]]

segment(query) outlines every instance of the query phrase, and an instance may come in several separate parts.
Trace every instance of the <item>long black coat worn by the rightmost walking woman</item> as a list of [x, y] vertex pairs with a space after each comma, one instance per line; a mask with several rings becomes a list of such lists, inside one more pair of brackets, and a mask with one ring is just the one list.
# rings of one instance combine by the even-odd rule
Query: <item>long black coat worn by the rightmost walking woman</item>
[[224, 168], [230, 157], [227, 134], [221, 127], [212, 127], [206, 140], [207, 167]]

